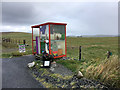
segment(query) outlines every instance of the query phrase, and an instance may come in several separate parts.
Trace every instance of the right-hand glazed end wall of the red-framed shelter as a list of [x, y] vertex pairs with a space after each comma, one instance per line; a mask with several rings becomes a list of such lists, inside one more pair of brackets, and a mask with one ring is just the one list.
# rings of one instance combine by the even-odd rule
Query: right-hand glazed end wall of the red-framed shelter
[[51, 53], [65, 55], [65, 25], [50, 25]]

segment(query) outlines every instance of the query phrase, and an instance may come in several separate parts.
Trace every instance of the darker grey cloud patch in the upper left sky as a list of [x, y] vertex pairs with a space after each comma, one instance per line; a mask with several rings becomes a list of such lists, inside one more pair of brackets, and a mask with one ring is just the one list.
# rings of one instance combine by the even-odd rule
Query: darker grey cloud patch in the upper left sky
[[34, 7], [30, 3], [2, 3], [3, 24], [21, 25], [31, 23], [33, 13], [35, 13]]

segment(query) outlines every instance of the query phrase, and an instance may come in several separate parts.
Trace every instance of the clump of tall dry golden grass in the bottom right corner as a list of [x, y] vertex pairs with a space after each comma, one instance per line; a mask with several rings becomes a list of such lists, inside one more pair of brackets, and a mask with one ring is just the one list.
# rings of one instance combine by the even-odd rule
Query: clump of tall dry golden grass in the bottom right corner
[[[97, 63], [97, 62], [96, 62]], [[96, 79], [112, 87], [120, 88], [118, 56], [105, 59], [99, 65], [91, 64], [85, 70], [85, 77]]]

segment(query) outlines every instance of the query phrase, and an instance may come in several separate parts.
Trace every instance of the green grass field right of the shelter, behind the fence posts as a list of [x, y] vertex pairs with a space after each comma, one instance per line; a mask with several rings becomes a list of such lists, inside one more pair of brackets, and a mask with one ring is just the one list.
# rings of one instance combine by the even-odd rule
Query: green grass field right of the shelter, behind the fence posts
[[[110, 50], [118, 55], [117, 37], [95, 37], [95, 38], [67, 38], [67, 56], [78, 58], [79, 46], [82, 46], [82, 59], [105, 59], [105, 53]], [[72, 49], [71, 47], [75, 47]], [[72, 51], [72, 52], [71, 52]]]

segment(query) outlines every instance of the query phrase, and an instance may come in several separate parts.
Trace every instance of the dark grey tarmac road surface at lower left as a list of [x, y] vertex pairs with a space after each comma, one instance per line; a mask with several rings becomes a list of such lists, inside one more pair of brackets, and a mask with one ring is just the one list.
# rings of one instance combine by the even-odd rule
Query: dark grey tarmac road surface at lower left
[[34, 56], [2, 59], [2, 88], [44, 88], [31, 75], [27, 64]]

